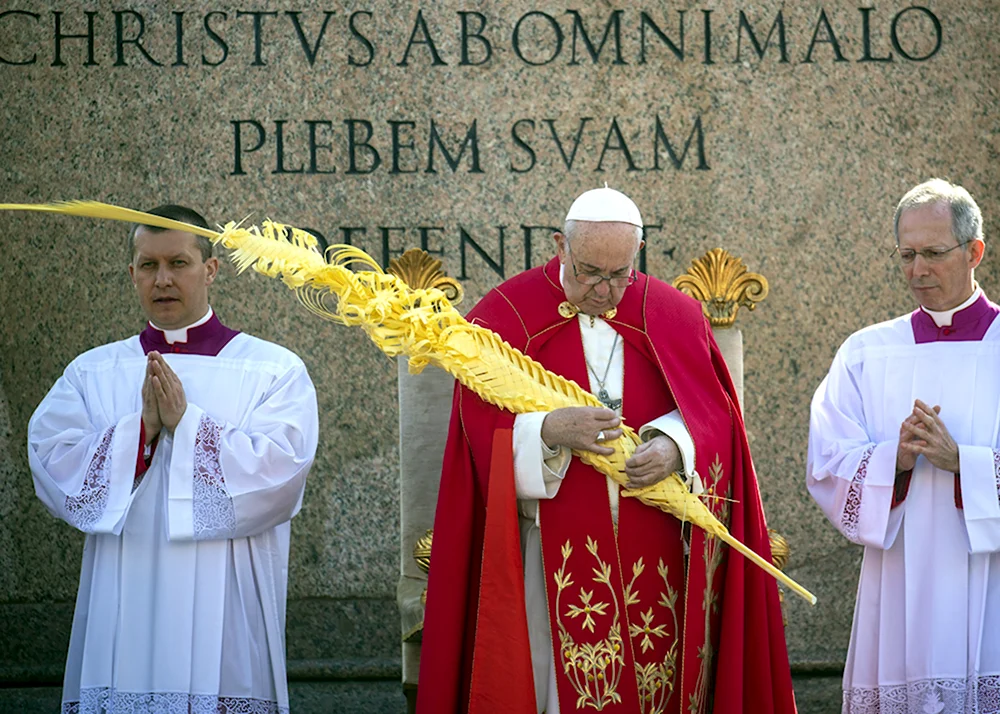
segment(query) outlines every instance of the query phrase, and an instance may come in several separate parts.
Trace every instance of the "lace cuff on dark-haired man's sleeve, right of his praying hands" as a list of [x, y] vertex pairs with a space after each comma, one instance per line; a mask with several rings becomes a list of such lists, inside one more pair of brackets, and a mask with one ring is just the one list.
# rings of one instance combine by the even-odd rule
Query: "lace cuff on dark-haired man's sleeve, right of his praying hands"
[[232, 538], [236, 510], [226, 488], [220, 460], [222, 425], [203, 414], [194, 439], [194, 539]]

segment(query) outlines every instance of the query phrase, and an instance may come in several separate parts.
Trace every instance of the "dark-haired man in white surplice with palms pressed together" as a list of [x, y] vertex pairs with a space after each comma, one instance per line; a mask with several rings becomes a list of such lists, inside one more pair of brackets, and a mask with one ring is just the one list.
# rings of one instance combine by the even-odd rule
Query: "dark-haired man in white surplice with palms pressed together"
[[[207, 227], [190, 209], [153, 213]], [[207, 241], [137, 226], [129, 246], [149, 324], [77, 357], [28, 427], [38, 497], [87, 534], [62, 711], [287, 712], [312, 382], [294, 354], [214, 315]]]

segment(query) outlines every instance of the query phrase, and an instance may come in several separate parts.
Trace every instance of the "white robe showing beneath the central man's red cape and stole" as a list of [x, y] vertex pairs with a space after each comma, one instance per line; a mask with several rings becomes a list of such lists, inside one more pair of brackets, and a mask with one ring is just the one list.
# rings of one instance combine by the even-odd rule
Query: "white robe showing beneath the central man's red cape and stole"
[[[594, 394], [600, 384], [594, 372], [601, 374], [611, 399], [621, 399], [625, 388], [625, 346], [615, 329], [601, 318], [578, 315], [583, 354]], [[607, 374], [605, 379], [604, 374]], [[538, 501], [555, 498], [569, 468], [572, 454], [560, 447], [550, 450], [542, 441], [542, 422], [547, 412], [518, 414], [514, 419], [514, 481], [521, 525], [521, 548], [524, 556], [525, 610], [531, 643], [531, 664], [535, 680], [535, 700], [539, 712], [559, 714], [556, 691], [555, 655], [549, 632], [549, 610], [545, 599], [545, 573], [542, 568], [542, 539], [538, 525]], [[684, 471], [692, 482], [698, 475], [694, 468], [694, 441], [677, 410], [643, 424], [643, 441], [666, 434], [677, 444]], [[618, 498], [621, 487], [606, 479], [612, 518], [618, 521]]]

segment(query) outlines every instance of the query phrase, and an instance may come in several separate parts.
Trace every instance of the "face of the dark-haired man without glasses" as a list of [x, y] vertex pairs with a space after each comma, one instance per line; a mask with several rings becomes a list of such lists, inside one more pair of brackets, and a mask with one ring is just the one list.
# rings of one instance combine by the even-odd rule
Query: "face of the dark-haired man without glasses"
[[157, 327], [176, 330], [208, 312], [208, 286], [219, 270], [217, 258], [204, 260], [198, 239], [181, 231], [135, 234], [135, 255], [128, 266], [139, 304]]

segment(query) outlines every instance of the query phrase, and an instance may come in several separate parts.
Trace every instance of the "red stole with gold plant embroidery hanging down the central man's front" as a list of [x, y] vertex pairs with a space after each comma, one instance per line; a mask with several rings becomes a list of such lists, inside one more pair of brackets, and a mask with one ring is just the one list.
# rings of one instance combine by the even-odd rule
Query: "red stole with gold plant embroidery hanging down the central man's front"
[[[613, 323], [612, 323], [613, 324]], [[626, 423], [638, 428], [674, 408], [634, 331], [623, 326]], [[587, 384], [579, 322], [532, 357]], [[680, 712], [684, 622], [680, 523], [633, 499], [612, 521], [606, 478], [574, 459], [556, 498], [541, 501], [542, 559], [560, 710]]]

